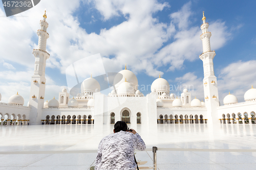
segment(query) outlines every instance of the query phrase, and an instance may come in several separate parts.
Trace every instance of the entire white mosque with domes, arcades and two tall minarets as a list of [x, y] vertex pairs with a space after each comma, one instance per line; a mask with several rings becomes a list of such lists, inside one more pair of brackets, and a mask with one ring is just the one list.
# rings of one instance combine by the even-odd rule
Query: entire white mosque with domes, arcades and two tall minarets
[[[169, 83], [161, 78], [151, 86], [151, 93], [144, 96], [138, 90], [136, 75], [126, 69], [119, 72], [122, 78], [114, 79], [114, 90], [107, 96], [100, 93], [99, 82], [90, 77], [81, 84], [81, 92], [70, 98], [67, 89], [59, 92], [58, 99], [45, 102], [46, 52], [48, 22], [46, 12], [37, 30], [38, 47], [33, 50], [35, 57], [34, 75], [31, 79], [30, 100], [24, 106], [21, 95], [14, 94], [8, 103], [0, 103], [1, 126], [3, 125], [49, 125], [49, 124], [115, 124], [123, 120], [129, 124], [255, 124], [256, 89], [244, 94], [245, 102], [238, 103], [236, 96], [228, 94], [219, 103], [218, 82], [214, 74], [215, 51], [211, 51], [209, 24], [203, 13], [202, 35], [204, 101], [193, 99], [185, 88], [175, 98], [170, 93]], [[1, 101], [0, 93], [0, 101]]]

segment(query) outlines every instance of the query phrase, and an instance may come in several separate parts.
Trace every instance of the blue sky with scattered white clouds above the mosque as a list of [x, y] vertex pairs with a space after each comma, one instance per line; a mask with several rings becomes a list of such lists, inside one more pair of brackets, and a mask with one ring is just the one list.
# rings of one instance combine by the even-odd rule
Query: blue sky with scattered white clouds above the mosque
[[[256, 86], [255, 1], [41, 1], [12, 17], [0, 11], [0, 93], [8, 102], [19, 91], [29, 99], [39, 20], [47, 9], [45, 100], [67, 88], [66, 68], [84, 57], [100, 53], [107, 72], [118, 72], [127, 63], [139, 85], [162, 78], [170, 85], [193, 85], [191, 93], [203, 99], [203, 67], [199, 55], [202, 11], [209, 23], [211, 50], [216, 51], [215, 74], [220, 101], [228, 91], [240, 102]], [[95, 70], [88, 67], [88, 70]], [[78, 73], [82, 78], [91, 73]], [[142, 86], [141, 86], [142, 87]], [[140, 88], [140, 87], [139, 87]], [[109, 90], [109, 92], [111, 89]], [[150, 92], [142, 91], [145, 95]], [[171, 91], [180, 93], [180, 90]]]

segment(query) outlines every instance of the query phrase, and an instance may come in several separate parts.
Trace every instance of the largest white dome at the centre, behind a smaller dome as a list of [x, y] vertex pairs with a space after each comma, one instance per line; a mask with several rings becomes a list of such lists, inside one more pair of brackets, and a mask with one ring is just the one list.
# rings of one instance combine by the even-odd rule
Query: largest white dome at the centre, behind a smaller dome
[[118, 88], [118, 86], [121, 83], [123, 83], [125, 81], [125, 79], [126, 79], [127, 82], [131, 83], [132, 86], [134, 86], [135, 89], [137, 89], [138, 79], [137, 79], [137, 77], [135, 76], [135, 74], [132, 71], [124, 69], [124, 70], [119, 71], [118, 73], [122, 74], [123, 77], [122, 77], [121, 80], [120, 80], [120, 76], [118, 76], [119, 74], [117, 74], [117, 76], [115, 77], [114, 85], [115, 85], [116, 88]]

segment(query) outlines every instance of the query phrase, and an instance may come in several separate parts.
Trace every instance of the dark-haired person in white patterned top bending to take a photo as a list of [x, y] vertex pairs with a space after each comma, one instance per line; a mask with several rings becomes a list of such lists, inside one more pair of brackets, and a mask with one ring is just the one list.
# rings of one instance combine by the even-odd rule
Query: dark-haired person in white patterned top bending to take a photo
[[105, 136], [99, 143], [95, 170], [135, 170], [135, 149], [146, 149], [140, 135], [134, 129], [128, 131], [125, 122], [116, 122], [114, 133]]

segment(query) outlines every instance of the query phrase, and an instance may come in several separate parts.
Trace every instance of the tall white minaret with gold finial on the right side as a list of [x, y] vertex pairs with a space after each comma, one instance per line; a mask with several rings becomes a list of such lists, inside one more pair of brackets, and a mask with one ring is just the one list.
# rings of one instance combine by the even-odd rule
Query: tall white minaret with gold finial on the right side
[[218, 111], [219, 106], [219, 94], [217, 86], [217, 78], [214, 75], [214, 57], [215, 51], [210, 50], [210, 37], [211, 33], [208, 32], [209, 24], [205, 22], [206, 17], [203, 12], [203, 24], [201, 25], [202, 35], [200, 39], [203, 41], [203, 53], [200, 55], [200, 59], [203, 61], [204, 67], [204, 96], [205, 106], [207, 108], [208, 123], [218, 124]]

